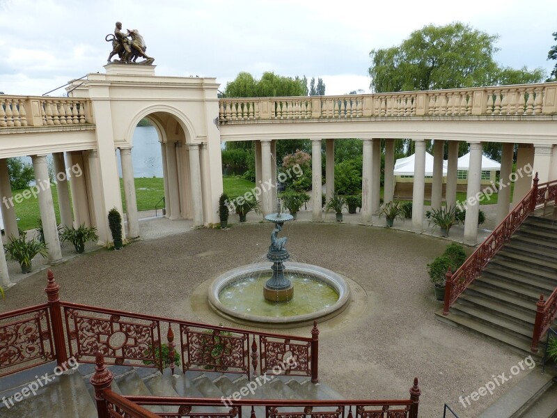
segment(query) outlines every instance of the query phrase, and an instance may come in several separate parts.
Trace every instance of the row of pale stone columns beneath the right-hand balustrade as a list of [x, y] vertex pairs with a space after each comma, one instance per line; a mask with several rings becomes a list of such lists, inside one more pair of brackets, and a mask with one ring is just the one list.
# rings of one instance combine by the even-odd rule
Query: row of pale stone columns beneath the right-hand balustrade
[[[338, 139], [341, 141], [342, 139]], [[334, 141], [325, 139], [325, 174], [327, 184], [327, 200], [334, 194]], [[372, 215], [379, 212], [380, 203], [380, 176], [381, 176], [381, 140], [362, 139], [362, 205], [361, 221], [371, 222]], [[394, 139], [385, 139], [385, 162], [384, 162], [384, 202], [393, 200], [394, 195]], [[265, 182], [276, 185], [276, 169], [272, 162], [275, 161], [273, 144], [274, 140], [256, 141], [256, 183], [265, 185]], [[464, 220], [464, 242], [476, 245], [478, 240], [478, 217], [480, 211], [481, 173], [483, 144], [480, 141], [468, 141], [470, 148], [470, 161], [467, 176], [466, 195], [466, 217]], [[425, 139], [414, 139], [416, 150], [414, 162], [414, 186], [412, 189], [412, 229], [421, 232], [424, 229], [424, 198], [425, 198]], [[432, 176], [431, 207], [441, 208], [443, 201], [443, 162], [444, 162], [444, 140], [434, 140], [434, 167]], [[445, 201], [447, 207], [455, 207], [457, 204], [457, 160], [458, 141], [448, 141], [448, 167]], [[533, 173], [538, 171], [540, 183], [557, 178], [557, 145], [547, 144], [519, 144], [517, 157], [517, 173], [512, 176], [514, 144], [503, 143], [501, 152], [501, 182], [505, 187], [499, 189], [496, 224], [499, 224], [510, 212], [510, 183], [515, 182], [513, 202], [517, 203], [531, 188]], [[311, 140], [311, 170], [312, 170], [312, 219], [322, 220], [321, 196], [322, 196], [322, 140]], [[529, 168], [528, 168], [529, 167]], [[519, 169], [522, 168], [520, 171]], [[514, 178], [513, 178], [514, 177]], [[494, 187], [494, 185], [492, 185]], [[261, 206], [265, 214], [274, 212], [274, 201], [276, 196], [272, 193], [276, 187], [269, 192], [262, 187]], [[470, 199], [476, 196], [476, 199]]]

